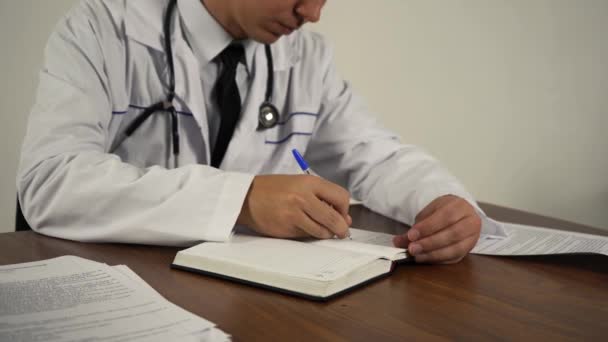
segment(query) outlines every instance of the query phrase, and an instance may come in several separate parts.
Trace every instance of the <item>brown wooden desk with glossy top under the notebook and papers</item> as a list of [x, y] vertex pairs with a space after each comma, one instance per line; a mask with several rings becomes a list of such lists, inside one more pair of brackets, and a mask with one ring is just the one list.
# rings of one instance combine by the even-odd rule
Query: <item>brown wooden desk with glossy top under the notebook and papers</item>
[[[503, 221], [607, 235], [601, 230], [492, 205]], [[357, 227], [405, 227], [361, 207]], [[402, 265], [390, 277], [315, 303], [172, 270], [178, 249], [85, 244], [34, 232], [0, 234], [0, 264], [78, 255], [126, 264], [173, 303], [236, 341], [601, 340], [608, 337], [608, 259], [599, 255], [487, 257], [456, 265]]]

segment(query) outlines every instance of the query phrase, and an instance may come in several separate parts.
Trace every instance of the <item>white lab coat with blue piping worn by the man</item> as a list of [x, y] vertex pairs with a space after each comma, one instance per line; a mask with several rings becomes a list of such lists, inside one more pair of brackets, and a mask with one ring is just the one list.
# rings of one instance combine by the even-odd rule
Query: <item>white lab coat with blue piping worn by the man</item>
[[[268, 130], [257, 129], [267, 75], [259, 44], [241, 120], [218, 170], [207, 165], [201, 94], [208, 90], [175, 16], [180, 166], [172, 168], [169, 117], [158, 113], [109, 153], [142, 107], [166, 97], [166, 4], [83, 1], [51, 35], [17, 176], [34, 230], [79, 241], [224, 241], [254, 175], [298, 172], [293, 148], [372, 210], [406, 223], [444, 194], [474, 203], [435, 159], [378, 124], [338, 76], [326, 42], [305, 30], [272, 45], [272, 98], [281, 124]], [[487, 222], [484, 230], [496, 233]]]

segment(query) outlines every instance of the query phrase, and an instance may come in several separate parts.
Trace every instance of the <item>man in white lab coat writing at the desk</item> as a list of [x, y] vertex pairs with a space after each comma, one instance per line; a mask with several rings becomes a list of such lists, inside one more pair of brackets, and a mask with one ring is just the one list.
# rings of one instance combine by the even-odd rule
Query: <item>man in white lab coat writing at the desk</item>
[[[300, 29], [324, 3], [178, 0], [171, 13], [167, 0], [83, 1], [49, 39], [23, 145], [17, 187], [33, 229], [163, 245], [225, 241], [235, 224], [343, 238], [344, 186], [413, 223], [394, 243], [417, 261], [461, 260], [479, 237], [480, 210], [433, 158], [375, 122], [323, 38]], [[168, 37], [163, 18], [173, 18]], [[264, 128], [270, 77], [280, 115]], [[125, 135], [165, 98], [161, 107], [175, 113], [155, 113]], [[294, 148], [323, 178], [293, 175]]]

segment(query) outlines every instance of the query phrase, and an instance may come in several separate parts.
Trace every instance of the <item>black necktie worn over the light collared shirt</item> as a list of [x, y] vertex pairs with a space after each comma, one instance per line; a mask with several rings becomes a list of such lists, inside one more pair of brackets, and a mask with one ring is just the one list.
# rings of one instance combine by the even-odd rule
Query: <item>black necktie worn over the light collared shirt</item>
[[241, 96], [236, 85], [236, 67], [243, 58], [241, 45], [230, 45], [219, 54], [222, 70], [215, 84], [215, 101], [220, 109], [220, 131], [211, 155], [211, 166], [219, 167], [241, 114]]

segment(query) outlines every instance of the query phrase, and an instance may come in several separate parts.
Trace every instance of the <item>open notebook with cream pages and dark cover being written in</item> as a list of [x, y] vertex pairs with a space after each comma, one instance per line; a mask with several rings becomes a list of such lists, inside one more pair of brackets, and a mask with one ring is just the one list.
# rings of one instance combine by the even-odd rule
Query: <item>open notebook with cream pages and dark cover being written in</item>
[[392, 235], [351, 228], [351, 239], [285, 240], [235, 234], [177, 253], [172, 267], [313, 300], [327, 300], [391, 272], [405, 249]]

